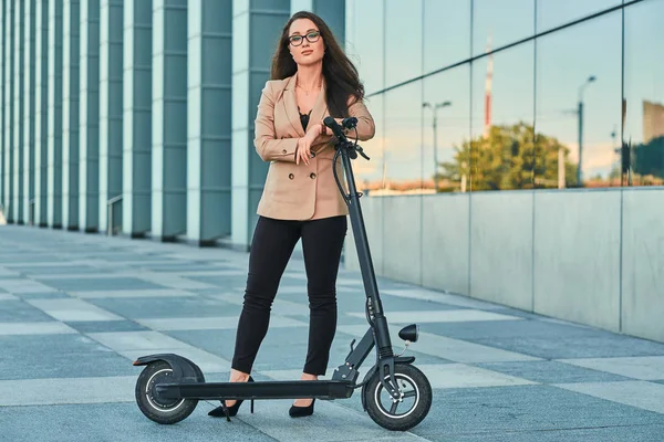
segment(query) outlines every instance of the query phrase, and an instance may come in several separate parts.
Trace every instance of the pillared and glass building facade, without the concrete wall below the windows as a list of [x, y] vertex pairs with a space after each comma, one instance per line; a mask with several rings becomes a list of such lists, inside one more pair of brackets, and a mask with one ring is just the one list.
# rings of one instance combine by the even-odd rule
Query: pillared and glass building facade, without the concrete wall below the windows
[[370, 194], [663, 183], [662, 0], [2, 0], [8, 220], [247, 243], [300, 9], [364, 81]]

